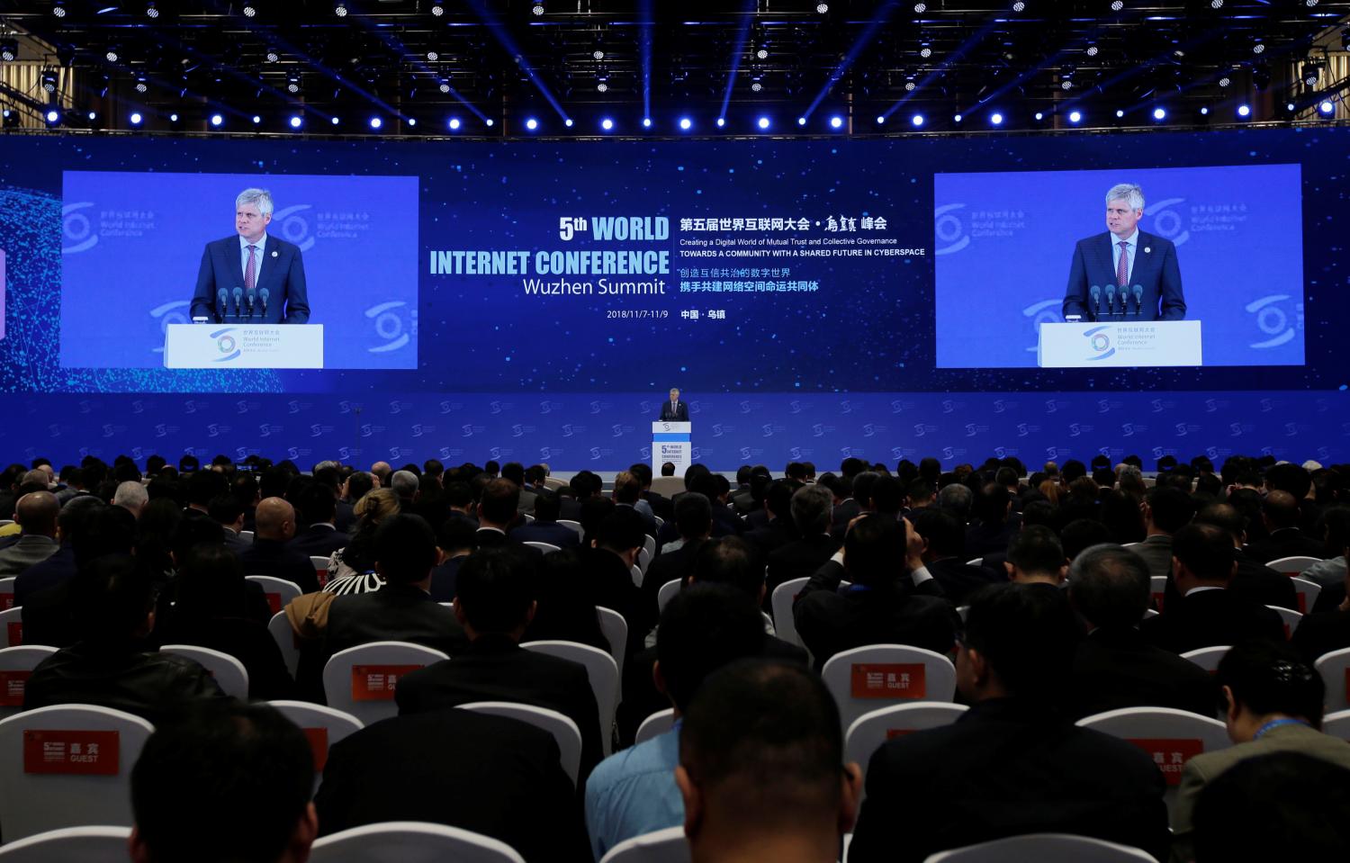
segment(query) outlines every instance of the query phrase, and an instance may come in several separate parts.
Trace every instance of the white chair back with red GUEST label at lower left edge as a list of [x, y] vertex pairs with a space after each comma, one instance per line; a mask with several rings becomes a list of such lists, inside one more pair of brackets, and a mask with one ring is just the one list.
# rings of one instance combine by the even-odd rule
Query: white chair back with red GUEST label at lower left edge
[[0, 835], [131, 827], [131, 766], [151, 732], [139, 716], [86, 704], [0, 720]]

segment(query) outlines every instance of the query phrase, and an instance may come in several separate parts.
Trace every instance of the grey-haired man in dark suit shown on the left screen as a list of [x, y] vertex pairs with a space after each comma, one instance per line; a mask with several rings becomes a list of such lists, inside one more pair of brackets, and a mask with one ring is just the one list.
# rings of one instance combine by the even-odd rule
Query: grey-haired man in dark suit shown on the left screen
[[235, 200], [238, 234], [207, 243], [201, 253], [197, 289], [192, 294], [193, 317], [209, 317], [217, 324], [227, 320], [302, 324], [309, 320], [300, 247], [269, 236], [269, 223], [271, 193], [266, 189], [240, 192]]

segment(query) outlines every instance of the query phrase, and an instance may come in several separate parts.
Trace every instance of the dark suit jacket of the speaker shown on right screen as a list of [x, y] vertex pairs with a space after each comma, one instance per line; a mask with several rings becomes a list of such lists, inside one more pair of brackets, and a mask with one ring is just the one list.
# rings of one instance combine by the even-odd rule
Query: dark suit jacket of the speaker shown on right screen
[[[1073, 247], [1073, 262], [1069, 265], [1069, 284], [1064, 289], [1064, 315], [1081, 315], [1083, 320], [1114, 320], [1108, 312], [1106, 290], [1115, 290], [1115, 254], [1112, 246], [1119, 240], [1110, 231], [1103, 231], [1079, 240]], [[1156, 234], [1139, 231], [1135, 238], [1134, 269], [1130, 285], [1143, 288], [1142, 311], [1134, 294], [1129, 300], [1129, 320], [1184, 320], [1185, 294], [1181, 292], [1181, 267], [1177, 265], [1177, 250], [1172, 240]], [[1094, 305], [1089, 288], [1102, 288], [1100, 309]], [[1116, 300], [1116, 311], [1120, 311]], [[1100, 312], [1100, 313], [1099, 313]]]

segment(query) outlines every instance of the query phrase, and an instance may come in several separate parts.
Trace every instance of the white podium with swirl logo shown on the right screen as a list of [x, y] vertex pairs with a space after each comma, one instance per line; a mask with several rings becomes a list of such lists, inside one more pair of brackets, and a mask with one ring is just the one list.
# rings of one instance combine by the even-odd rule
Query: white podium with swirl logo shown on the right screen
[[1197, 320], [1098, 320], [1041, 324], [1042, 369], [1199, 366]]

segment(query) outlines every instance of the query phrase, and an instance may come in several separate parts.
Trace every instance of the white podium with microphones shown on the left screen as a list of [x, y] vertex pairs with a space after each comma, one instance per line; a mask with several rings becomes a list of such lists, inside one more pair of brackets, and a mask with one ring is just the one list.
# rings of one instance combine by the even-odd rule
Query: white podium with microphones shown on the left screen
[[323, 324], [169, 324], [166, 369], [323, 369]]

